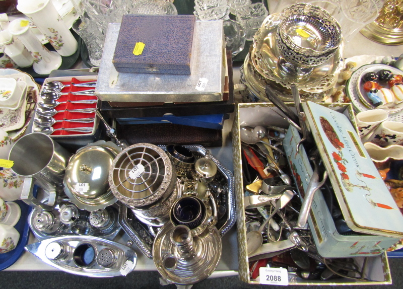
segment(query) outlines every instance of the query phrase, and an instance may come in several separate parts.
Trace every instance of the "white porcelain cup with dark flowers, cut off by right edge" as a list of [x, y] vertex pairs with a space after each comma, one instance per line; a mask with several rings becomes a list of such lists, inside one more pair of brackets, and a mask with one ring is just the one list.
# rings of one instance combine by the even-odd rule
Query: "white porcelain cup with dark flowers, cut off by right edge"
[[403, 144], [403, 123], [385, 120], [374, 130], [368, 140], [381, 147]]

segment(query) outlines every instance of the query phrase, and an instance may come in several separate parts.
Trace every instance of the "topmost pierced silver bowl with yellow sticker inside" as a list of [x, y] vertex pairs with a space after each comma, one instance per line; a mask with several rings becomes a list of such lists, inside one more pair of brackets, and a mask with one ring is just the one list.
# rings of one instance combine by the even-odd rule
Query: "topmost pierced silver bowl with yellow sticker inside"
[[297, 3], [281, 12], [279, 36], [296, 55], [315, 57], [327, 55], [339, 47], [342, 29], [326, 10]]

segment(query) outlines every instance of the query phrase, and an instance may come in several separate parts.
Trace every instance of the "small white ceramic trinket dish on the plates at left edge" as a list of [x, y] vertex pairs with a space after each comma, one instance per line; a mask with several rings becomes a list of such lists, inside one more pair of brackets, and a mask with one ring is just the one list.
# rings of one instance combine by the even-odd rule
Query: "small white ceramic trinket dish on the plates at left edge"
[[0, 107], [17, 109], [25, 96], [26, 82], [0, 78]]

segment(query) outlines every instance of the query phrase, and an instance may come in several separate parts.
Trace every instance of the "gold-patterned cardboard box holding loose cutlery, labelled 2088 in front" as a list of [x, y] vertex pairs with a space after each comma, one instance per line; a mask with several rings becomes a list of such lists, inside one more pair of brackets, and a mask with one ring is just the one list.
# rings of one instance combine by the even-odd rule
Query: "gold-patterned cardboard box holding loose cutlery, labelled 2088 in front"
[[[289, 103], [290, 107], [294, 104]], [[350, 107], [349, 104], [324, 104], [339, 112], [343, 112]], [[350, 107], [351, 108], [351, 107]], [[241, 165], [241, 140], [239, 127], [256, 125], [275, 125], [283, 128], [288, 128], [289, 124], [280, 117], [275, 111], [280, 112], [272, 103], [242, 103], [238, 104], [234, 125], [232, 127], [232, 145], [234, 154], [234, 176], [235, 176], [235, 196], [236, 196], [236, 214], [237, 214], [237, 238], [238, 238], [238, 261], [239, 261], [239, 278], [240, 280], [259, 284], [259, 279], [251, 279], [249, 275], [249, 261], [246, 251], [246, 225], [245, 225], [245, 210], [244, 210], [244, 190]], [[349, 109], [352, 113], [352, 110]], [[364, 262], [364, 257], [355, 257], [356, 262], [361, 265]], [[364, 277], [370, 281], [355, 281], [353, 279], [342, 278], [329, 281], [306, 280], [297, 278], [290, 281], [291, 285], [376, 285], [376, 284], [391, 284], [391, 276], [389, 264], [386, 254], [376, 257], [368, 257]]]

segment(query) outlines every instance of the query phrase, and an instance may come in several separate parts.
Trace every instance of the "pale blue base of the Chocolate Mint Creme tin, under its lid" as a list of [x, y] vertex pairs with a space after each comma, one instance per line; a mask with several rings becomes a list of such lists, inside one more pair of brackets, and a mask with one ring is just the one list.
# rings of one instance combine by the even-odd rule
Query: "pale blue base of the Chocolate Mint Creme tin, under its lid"
[[[300, 146], [299, 153], [296, 152], [296, 146], [300, 139], [299, 132], [290, 126], [283, 140], [283, 145], [301, 197], [301, 194], [308, 187], [313, 170], [304, 146]], [[395, 238], [355, 234], [354, 232], [350, 232], [348, 235], [340, 234], [320, 190], [317, 190], [313, 197], [308, 223], [316, 249], [319, 255], [324, 258], [376, 256], [398, 241]]]

